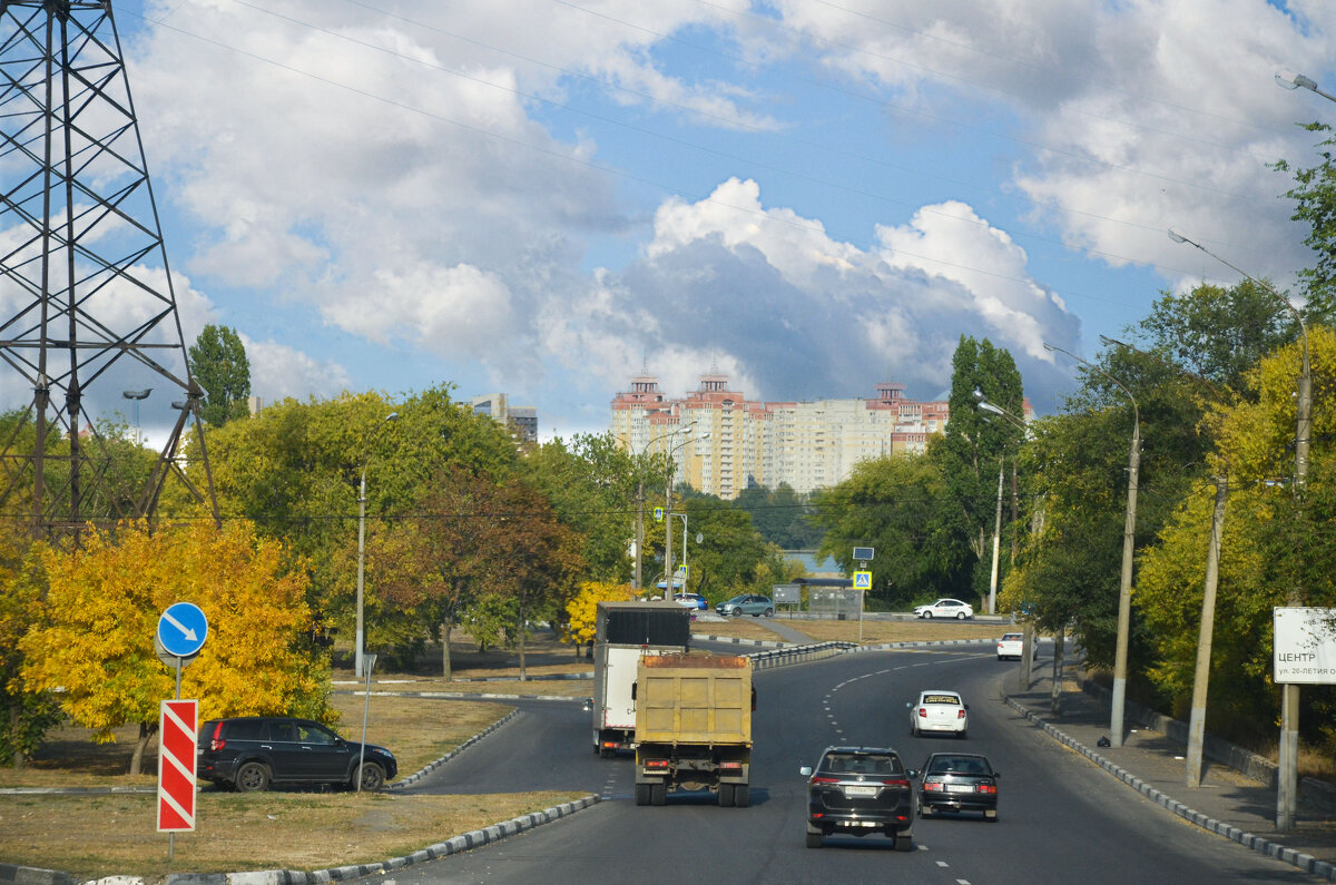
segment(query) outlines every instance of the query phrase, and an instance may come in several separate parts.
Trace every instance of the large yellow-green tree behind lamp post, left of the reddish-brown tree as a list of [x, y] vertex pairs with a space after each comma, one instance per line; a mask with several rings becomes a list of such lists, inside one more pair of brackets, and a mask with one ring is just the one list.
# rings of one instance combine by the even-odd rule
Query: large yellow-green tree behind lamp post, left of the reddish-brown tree
[[[309, 564], [309, 604], [317, 630], [354, 634], [357, 499], [363, 467], [373, 535], [382, 519], [411, 515], [436, 479], [452, 467], [484, 477], [517, 469], [520, 455], [506, 429], [460, 406], [450, 392], [449, 385], [441, 385], [402, 402], [375, 393], [285, 400], [253, 420], [210, 432], [208, 453], [223, 515], [253, 520], [258, 531], [285, 540], [294, 556]], [[386, 422], [391, 412], [398, 418]], [[192, 476], [195, 469], [192, 464]], [[386, 616], [401, 614], [413, 616], [399, 610], [389, 610]]]

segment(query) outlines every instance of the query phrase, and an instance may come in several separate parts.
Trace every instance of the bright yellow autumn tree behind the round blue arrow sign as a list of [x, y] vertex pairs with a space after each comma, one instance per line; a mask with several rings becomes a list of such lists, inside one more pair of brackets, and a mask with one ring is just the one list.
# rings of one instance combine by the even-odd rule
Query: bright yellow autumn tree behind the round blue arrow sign
[[[182, 671], [182, 697], [200, 721], [294, 713], [329, 718], [329, 662], [309, 647], [306, 570], [246, 520], [90, 529], [81, 549], [41, 552], [41, 626], [20, 642], [28, 691], [59, 690], [64, 713], [99, 741], [139, 725], [131, 774], [156, 730], [175, 670], [154, 650], [162, 612], [190, 602], [208, 619], [199, 656]], [[295, 567], [294, 567], [295, 565]]]

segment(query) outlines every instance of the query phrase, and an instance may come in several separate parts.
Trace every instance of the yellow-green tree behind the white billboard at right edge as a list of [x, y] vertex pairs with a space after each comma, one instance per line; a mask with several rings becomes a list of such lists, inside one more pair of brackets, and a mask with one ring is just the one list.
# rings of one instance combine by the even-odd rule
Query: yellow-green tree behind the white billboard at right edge
[[[1336, 334], [1309, 329], [1315, 389], [1336, 385]], [[1336, 604], [1336, 417], [1313, 414], [1311, 468], [1304, 495], [1293, 495], [1299, 346], [1292, 344], [1246, 373], [1248, 396], [1221, 409], [1210, 455], [1228, 464], [1230, 495], [1221, 544], [1212, 647], [1208, 727], [1240, 737], [1268, 735], [1279, 710], [1271, 684], [1272, 607], [1296, 591], [1309, 606]], [[1153, 638], [1149, 676], [1173, 709], [1190, 699], [1201, 616], [1205, 531], [1212, 489], [1185, 496], [1160, 544], [1142, 557], [1137, 604]], [[1259, 638], [1263, 638], [1259, 640]], [[1308, 739], [1336, 746], [1331, 688], [1305, 690], [1300, 717]], [[1312, 713], [1320, 715], [1308, 715]], [[1269, 737], [1269, 735], [1268, 735]]]

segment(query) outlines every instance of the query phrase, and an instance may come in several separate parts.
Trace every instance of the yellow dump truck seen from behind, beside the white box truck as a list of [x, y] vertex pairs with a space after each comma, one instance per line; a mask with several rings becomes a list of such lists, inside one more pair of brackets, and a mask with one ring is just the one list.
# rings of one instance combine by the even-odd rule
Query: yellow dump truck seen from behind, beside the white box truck
[[636, 805], [711, 790], [751, 805], [752, 662], [701, 652], [645, 655], [636, 672]]

